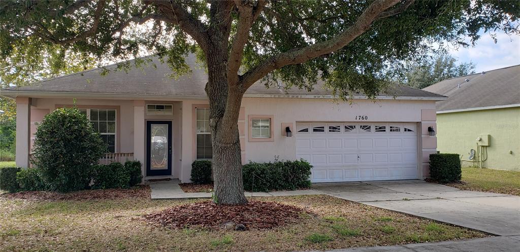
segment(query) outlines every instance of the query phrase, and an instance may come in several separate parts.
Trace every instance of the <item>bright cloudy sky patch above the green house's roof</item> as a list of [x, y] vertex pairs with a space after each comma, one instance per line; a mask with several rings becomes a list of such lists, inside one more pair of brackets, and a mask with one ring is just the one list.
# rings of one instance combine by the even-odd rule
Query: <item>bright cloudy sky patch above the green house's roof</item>
[[475, 63], [477, 73], [520, 64], [520, 35], [510, 36], [503, 32], [497, 32], [496, 35], [496, 44], [489, 34], [482, 34], [474, 47], [451, 47], [448, 51], [458, 59], [458, 63]]

